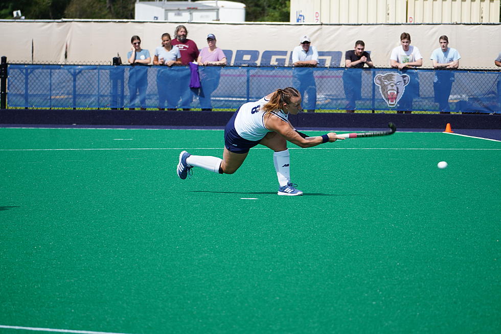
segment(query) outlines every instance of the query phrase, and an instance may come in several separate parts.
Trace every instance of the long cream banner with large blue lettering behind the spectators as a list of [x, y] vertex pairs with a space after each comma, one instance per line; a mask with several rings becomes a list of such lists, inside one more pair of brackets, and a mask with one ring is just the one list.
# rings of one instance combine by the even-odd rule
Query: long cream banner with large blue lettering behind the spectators
[[[111, 63], [120, 54], [127, 62], [130, 38], [139, 35], [142, 47], [153, 56], [161, 35], [179, 23], [138, 21], [30, 21], [1, 20], [3, 48], [0, 56], [10, 62]], [[363, 40], [366, 51], [378, 67], [390, 64], [391, 50], [400, 45], [400, 34], [411, 34], [412, 45], [419, 48], [423, 67], [431, 68], [431, 52], [439, 48], [439, 37], [449, 37], [449, 47], [462, 58], [460, 68], [497, 69], [494, 59], [501, 52], [501, 25], [321, 25], [288, 23], [186, 23], [188, 38], [199, 49], [207, 46], [207, 34], [216, 35], [217, 46], [232, 52], [229, 63], [247, 61], [257, 65], [289, 65], [290, 54], [308, 35], [313, 46], [325, 52], [326, 66], [344, 66], [344, 55]], [[332, 53], [341, 55], [335, 62]], [[230, 58], [230, 55], [228, 55]]]

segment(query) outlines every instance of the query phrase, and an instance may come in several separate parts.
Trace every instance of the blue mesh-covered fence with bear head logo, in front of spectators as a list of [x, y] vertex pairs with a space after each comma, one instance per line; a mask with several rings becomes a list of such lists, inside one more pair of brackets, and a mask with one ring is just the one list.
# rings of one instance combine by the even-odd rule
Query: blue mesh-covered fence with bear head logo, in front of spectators
[[190, 75], [187, 66], [9, 64], [7, 107], [234, 109], [302, 85], [305, 109], [501, 113], [499, 71], [200, 66], [199, 89]]

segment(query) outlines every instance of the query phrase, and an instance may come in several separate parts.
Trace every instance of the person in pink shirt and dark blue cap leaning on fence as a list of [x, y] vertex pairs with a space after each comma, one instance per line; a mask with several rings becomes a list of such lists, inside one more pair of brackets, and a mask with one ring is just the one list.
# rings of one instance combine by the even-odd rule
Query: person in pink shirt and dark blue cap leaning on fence
[[198, 65], [205, 66], [200, 69], [200, 84], [202, 86], [201, 95], [198, 97], [202, 111], [212, 111], [211, 94], [219, 85], [221, 77], [221, 68], [219, 66], [226, 65], [226, 56], [224, 52], [216, 47], [216, 36], [214, 34], [207, 35], [208, 47], [200, 51], [198, 55]]

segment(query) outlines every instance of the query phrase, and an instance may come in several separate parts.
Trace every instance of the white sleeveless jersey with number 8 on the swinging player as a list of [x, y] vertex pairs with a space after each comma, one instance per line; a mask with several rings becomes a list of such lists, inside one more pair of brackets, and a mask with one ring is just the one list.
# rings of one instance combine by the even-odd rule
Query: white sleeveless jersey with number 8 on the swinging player
[[[265, 113], [261, 111], [261, 106], [268, 102], [269, 100], [263, 97], [259, 101], [242, 104], [235, 118], [235, 130], [240, 137], [250, 141], [258, 141], [270, 132], [264, 125]], [[284, 122], [288, 121], [289, 115], [282, 110], [276, 110], [272, 113]]]

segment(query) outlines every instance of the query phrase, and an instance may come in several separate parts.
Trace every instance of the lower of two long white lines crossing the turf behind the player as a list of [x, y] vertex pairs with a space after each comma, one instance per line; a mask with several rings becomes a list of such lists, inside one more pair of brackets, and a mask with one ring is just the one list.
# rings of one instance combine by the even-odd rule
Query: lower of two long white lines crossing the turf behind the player
[[[10, 152], [10, 151], [134, 151], [134, 150], [222, 150], [222, 147], [192, 147], [192, 148], [173, 148], [173, 147], [144, 147], [144, 148], [2, 148], [0, 152]], [[253, 147], [253, 150], [256, 149], [264, 149], [269, 150], [267, 147]], [[304, 148], [300, 147], [290, 147], [289, 150], [303, 150]], [[501, 151], [501, 148], [395, 148], [395, 147], [351, 147], [351, 148], [343, 148], [343, 147], [310, 147], [309, 149], [321, 149], [321, 150], [444, 150], [444, 151]]]

